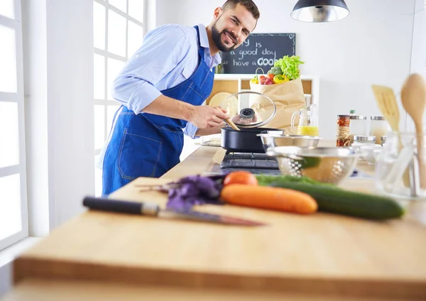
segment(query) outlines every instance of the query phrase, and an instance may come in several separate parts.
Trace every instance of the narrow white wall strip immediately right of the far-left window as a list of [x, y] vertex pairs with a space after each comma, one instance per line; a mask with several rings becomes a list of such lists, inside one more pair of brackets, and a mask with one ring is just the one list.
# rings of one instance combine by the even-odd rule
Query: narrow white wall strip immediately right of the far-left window
[[30, 236], [49, 233], [48, 75], [46, 1], [22, 1], [26, 109], [28, 228]]

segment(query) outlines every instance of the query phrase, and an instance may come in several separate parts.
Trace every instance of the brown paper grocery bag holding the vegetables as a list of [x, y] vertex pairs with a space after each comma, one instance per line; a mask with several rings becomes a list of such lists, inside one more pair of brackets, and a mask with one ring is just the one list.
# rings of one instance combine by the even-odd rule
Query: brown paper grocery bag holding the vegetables
[[[271, 97], [277, 107], [275, 117], [263, 127], [280, 128], [287, 130], [287, 133], [293, 133], [291, 131], [291, 116], [295, 111], [305, 106], [305, 95], [300, 77], [282, 84], [250, 83], [250, 88], [253, 92], [259, 92]], [[250, 94], [249, 106], [256, 112], [258, 121], [265, 121], [273, 113], [273, 104], [262, 95]], [[297, 114], [295, 126], [298, 122], [299, 116]]]

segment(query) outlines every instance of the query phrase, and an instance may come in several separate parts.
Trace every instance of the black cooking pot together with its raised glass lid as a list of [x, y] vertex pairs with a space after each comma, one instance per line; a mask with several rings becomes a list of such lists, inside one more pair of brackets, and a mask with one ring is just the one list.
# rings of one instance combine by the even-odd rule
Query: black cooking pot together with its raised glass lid
[[[273, 119], [276, 113], [276, 106], [273, 100], [265, 94], [259, 92], [244, 91], [230, 95], [235, 97], [239, 94], [258, 94], [269, 99], [273, 104], [273, 113], [264, 121], [246, 122], [247, 119], [253, 120], [254, 110], [251, 108], [243, 108], [239, 111], [241, 122], [235, 122], [235, 125], [240, 128], [240, 131], [234, 130], [231, 127], [222, 128], [221, 146], [230, 152], [235, 153], [265, 153], [263, 143], [258, 133], [283, 133], [283, 130], [278, 128], [260, 128]], [[227, 97], [226, 99], [228, 99]], [[224, 102], [226, 101], [224, 99]], [[241, 102], [240, 102], [241, 103]], [[231, 116], [232, 117], [232, 116]]]

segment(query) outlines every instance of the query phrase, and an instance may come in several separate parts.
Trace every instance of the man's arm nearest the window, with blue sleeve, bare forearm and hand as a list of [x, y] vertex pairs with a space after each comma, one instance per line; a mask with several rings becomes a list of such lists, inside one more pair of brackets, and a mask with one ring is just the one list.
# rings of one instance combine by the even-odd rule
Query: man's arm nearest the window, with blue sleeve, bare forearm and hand
[[177, 26], [161, 26], [149, 33], [114, 81], [114, 99], [135, 114], [143, 112], [184, 119], [198, 128], [214, 127], [229, 118], [221, 110], [166, 97], [154, 87], [182, 60], [182, 53], [189, 47], [187, 43], [185, 33]]

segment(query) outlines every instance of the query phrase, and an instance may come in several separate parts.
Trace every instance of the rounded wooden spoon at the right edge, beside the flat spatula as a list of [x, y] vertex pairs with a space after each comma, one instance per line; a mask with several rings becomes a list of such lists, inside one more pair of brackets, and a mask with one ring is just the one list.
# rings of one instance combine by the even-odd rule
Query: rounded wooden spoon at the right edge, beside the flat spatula
[[417, 155], [419, 162], [420, 187], [426, 188], [426, 167], [423, 160], [423, 113], [426, 107], [426, 84], [421, 75], [410, 75], [401, 90], [401, 100], [405, 111], [414, 121], [417, 137]]

